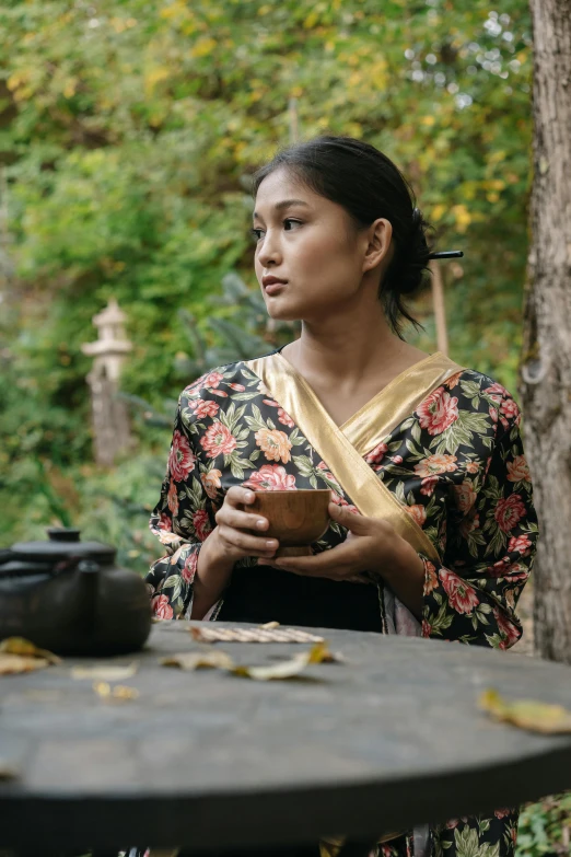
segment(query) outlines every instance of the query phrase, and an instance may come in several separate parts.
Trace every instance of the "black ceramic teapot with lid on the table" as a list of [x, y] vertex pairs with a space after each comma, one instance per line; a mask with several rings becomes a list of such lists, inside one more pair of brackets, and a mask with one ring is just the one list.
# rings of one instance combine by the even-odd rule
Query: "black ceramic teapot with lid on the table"
[[116, 551], [50, 529], [48, 542], [0, 552], [0, 639], [25, 637], [60, 655], [140, 649], [151, 630], [147, 587], [114, 565]]

